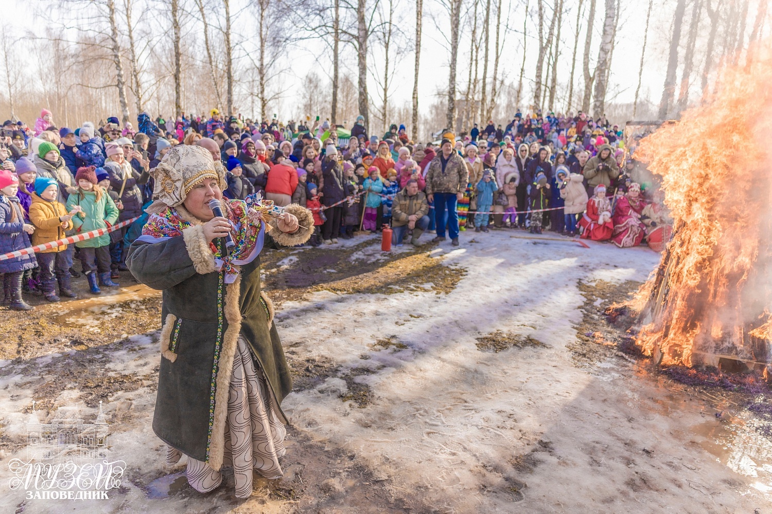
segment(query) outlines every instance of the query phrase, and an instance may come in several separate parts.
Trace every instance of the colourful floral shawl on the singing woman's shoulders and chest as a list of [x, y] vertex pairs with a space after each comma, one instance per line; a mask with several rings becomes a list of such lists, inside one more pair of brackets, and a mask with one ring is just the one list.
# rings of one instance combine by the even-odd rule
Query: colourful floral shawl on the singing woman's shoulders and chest
[[[225, 273], [225, 284], [232, 284], [239, 274], [242, 264], [249, 264], [262, 250], [266, 236], [266, 213], [273, 210], [271, 200], [261, 200], [259, 193], [253, 193], [245, 200], [221, 200], [225, 217], [231, 222], [235, 247], [230, 254], [221, 249], [214, 241], [209, 249], [215, 256], [215, 268]], [[145, 243], [161, 243], [172, 237], [180, 237], [182, 231], [192, 227], [193, 223], [183, 219], [174, 207], [166, 207], [159, 213], [151, 214], [142, 229], [138, 240]]]

